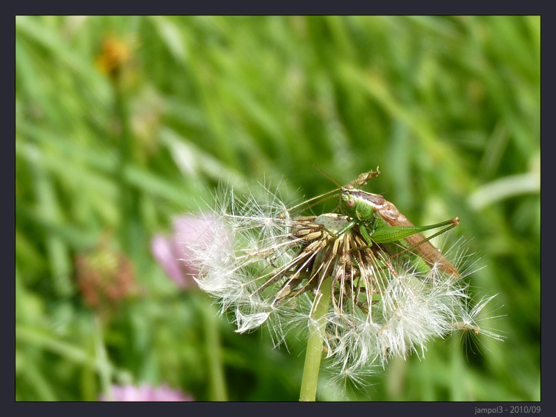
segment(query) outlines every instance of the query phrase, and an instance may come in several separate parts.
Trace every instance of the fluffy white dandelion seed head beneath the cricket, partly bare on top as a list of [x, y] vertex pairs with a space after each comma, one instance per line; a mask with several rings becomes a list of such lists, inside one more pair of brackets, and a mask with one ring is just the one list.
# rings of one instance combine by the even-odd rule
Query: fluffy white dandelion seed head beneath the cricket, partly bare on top
[[469, 309], [466, 285], [441, 264], [470, 265], [463, 240], [431, 265], [416, 250], [397, 254], [396, 245], [368, 245], [347, 215], [302, 209], [270, 186], [245, 197], [225, 187], [216, 193], [211, 226], [188, 253], [199, 287], [218, 299], [222, 312], [234, 312], [236, 332], [264, 325], [280, 345], [293, 330], [306, 331], [328, 277], [324, 343], [340, 379], [357, 383], [392, 357], [423, 357], [432, 338], [458, 326], [478, 328], [476, 316], [489, 300]]

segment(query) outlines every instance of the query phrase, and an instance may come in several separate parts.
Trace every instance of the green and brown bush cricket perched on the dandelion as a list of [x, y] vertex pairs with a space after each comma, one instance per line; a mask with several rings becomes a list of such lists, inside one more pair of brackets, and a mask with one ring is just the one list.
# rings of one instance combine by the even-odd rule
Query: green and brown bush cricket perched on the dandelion
[[[334, 181], [326, 172], [316, 165], [315, 167]], [[430, 239], [456, 227], [459, 224], [459, 218], [430, 224], [429, 226], [415, 226], [400, 213], [393, 203], [386, 200], [382, 195], [359, 190], [359, 187], [366, 185], [370, 179], [377, 177], [378, 174], [380, 172], [377, 167], [376, 171], [371, 170], [359, 175], [355, 181], [345, 187], [334, 181], [341, 190], [338, 199], [338, 211], [352, 220], [341, 231], [332, 234], [332, 236], [339, 236], [357, 224], [359, 233], [368, 244], [367, 247], [371, 247], [373, 243], [405, 242], [409, 247], [406, 247], [403, 252], [414, 250], [427, 265], [439, 268], [457, 279], [460, 278], [461, 275], [457, 268], [443, 256], [438, 248], [430, 243]], [[444, 226], [444, 229], [429, 238], [425, 238], [421, 233]], [[364, 248], [361, 247], [360, 249]]]

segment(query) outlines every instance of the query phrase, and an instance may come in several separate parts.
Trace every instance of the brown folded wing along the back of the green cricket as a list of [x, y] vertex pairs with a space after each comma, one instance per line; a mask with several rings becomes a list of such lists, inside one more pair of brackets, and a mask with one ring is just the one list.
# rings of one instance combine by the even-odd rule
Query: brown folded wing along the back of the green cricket
[[[386, 223], [390, 224], [391, 226], [415, 227], [413, 223], [407, 220], [407, 218], [402, 213], [400, 213], [400, 211], [396, 206], [394, 206], [394, 204], [387, 200], [384, 200], [384, 205], [382, 206], [382, 208], [377, 210], [377, 213], [382, 219], [384, 219]], [[438, 248], [434, 247], [434, 245], [430, 243], [430, 240], [420, 243], [425, 239], [425, 236], [420, 233], [406, 238], [409, 245], [416, 245], [414, 250], [423, 257], [423, 260], [426, 263], [430, 264], [431, 266], [435, 265], [437, 268], [440, 268], [441, 270], [449, 275], [454, 276], [455, 278], [461, 278], [461, 275], [459, 275], [459, 271], [457, 270], [457, 268], [452, 265], [452, 263], [448, 261], [448, 259], [446, 259], [446, 257]]]

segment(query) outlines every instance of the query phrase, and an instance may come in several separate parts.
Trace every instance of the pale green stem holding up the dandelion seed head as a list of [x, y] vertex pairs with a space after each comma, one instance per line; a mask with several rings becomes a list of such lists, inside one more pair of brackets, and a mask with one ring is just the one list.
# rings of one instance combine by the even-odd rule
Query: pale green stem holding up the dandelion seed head
[[320, 285], [320, 295], [317, 295], [320, 299], [317, 301], [313, 318], [309, 322], [309, 339], [307, 340], [305, 366], [301, 381], [300, 401], [316, 400], [320, 359], [322, 359], [322, 341], [325, 338], [326, 315], [331, 295], [332, 279], [328, 277]]

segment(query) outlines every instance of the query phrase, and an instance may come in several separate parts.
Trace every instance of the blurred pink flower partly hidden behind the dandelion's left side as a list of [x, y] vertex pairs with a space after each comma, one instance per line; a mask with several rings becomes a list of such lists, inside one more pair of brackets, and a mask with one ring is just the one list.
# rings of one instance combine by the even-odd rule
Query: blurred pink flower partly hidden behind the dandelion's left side
[[211, 222], [207, 218], [181, 215], [174, 218], [172, 236], [156, 235], [151, 240], [152, 254], [167, 275], [182, 288], [197, 285], [193, 275], [199, 272], [189, 259], [191, 253], [187, 245], [200, 238]]

